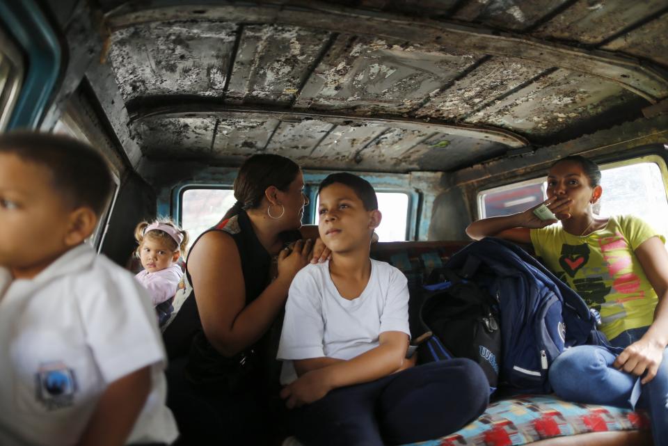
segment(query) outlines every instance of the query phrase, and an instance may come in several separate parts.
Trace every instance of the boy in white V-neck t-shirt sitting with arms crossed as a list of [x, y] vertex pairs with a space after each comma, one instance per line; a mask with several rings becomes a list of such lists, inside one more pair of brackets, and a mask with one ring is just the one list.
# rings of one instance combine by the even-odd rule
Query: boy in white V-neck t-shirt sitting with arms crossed
[[320, 237], [332, 258], [295, 276], [278, 349], [297, 438], [307, 446], [413, 443], [474, 420], [488, 402], [477, 364], [413, 367], [405, 358], [408, 288], [401, 271], [369, 258], [381, 223], [371, 184], [335, 173], [318, 193]]

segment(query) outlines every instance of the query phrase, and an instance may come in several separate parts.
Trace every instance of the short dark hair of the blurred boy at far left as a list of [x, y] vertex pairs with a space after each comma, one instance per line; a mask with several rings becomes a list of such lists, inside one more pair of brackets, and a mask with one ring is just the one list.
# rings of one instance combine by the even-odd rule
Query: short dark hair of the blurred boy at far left
[[109, 166], [90, 145], [70, 136], [38, 132], [0, 135], [0, 154], [15, 154], [51, 171], [51, 184], [74, 207], [86, 206], [99, 217], [111, 196]]

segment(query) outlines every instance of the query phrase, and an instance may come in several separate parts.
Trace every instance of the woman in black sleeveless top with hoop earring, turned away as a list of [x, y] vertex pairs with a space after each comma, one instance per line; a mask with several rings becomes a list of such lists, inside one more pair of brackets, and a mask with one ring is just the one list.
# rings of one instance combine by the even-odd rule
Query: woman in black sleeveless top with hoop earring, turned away
[[[180, 445], [267, 444], [271, 395], [278, 383], [272, 325], [292, 278], [312, 251], [317, 227], [301, 228], [303, 175], [273, 154], [250, 157], [234, 181], [237, 203], [204, 232], [186, 260], [164, 340], [170, 365], [168, 406]], [[299, 231], [299, 228], [302, 231]], [[292, 249], [286, 248], [292, 244]], [[276, 259], [276, 271], [272, 260]]]

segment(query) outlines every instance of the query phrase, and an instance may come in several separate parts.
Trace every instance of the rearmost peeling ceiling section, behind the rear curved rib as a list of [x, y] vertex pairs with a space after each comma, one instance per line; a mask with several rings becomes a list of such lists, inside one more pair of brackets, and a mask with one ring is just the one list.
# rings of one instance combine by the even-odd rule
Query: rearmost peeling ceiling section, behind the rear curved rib
[[[150, 159], [228, 166], [241, 164], [250, 154], [267, 152], [287, 156], [304, 168], [401, 173], [452, 169], [467, 160], [482, 161], [507, 150], [506, 145], [479, 138], [438, 132], [424, 137], [420, 130], [396, 129], [383, 122], [331, 124], [315, 118], [279, 122], [215, 115], [150, 116], [134, 121], [130, 128], [148, 141], [145, 155]], [[218, 138], [212, 138], [213, 132], [218, 132]], [[359, 147], [365, 149], [356, 152]]]

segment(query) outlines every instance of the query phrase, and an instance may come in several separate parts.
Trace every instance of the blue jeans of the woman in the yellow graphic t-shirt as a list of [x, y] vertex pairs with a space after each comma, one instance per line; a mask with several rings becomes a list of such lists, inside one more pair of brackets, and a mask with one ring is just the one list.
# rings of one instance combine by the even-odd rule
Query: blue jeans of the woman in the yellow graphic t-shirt
[[[628, 347], [648, 327], [627, 330], [615, 337], [613, 347]], [[612, 367], [617, 355], [604, 347], [583, 345], [564, 351], [550, 367], [550, 384], [563, 399], [589, 404], [631, 407], [631, 392], [637, 376]], [[637, 406], [649, 411], [655, 445], [668, 445], [668, 349], [658, 373], [642, 385]]]

